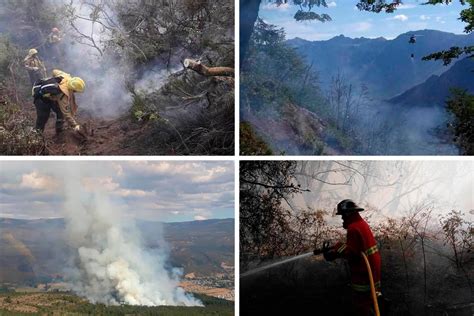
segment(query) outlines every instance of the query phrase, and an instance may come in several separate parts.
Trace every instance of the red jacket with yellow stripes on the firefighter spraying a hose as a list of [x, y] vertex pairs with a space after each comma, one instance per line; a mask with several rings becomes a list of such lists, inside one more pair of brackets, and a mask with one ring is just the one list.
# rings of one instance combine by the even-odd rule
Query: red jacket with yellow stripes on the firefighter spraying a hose
[[351, 271], [351, 286], [357, 292], [370, 291], [370, 281], [367, 266], [361, 252], [364, 252], [370, 263], [375, 288], [380, 290], [381, 259], [377, 242], [367, 222], [359, 213], [351, 214], [344, 222], [347, 228], [346, 243], [338, 243], [331, 251], [337, 252], [338, 257], [347, 259]]

